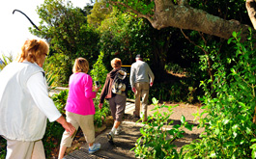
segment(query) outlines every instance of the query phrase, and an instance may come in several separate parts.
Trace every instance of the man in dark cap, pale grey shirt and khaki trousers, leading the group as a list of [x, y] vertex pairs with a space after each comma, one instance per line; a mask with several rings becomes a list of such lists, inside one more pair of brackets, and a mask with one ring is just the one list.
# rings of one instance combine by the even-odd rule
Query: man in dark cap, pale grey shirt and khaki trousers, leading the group
[[[135, 93], [135, 111], [134, 117], [140, 117], [140, 104], [142, 103], [142, 121], [147, 120], [147, 108], [150, 87], [153, 86], [155, 76], [150, 66], [143, 62], [140, 54], [136, 55], [136, 62], [130, 68], [130, 86], [132, 92]], [[142, 101], [140, 103], [140, 98]]]

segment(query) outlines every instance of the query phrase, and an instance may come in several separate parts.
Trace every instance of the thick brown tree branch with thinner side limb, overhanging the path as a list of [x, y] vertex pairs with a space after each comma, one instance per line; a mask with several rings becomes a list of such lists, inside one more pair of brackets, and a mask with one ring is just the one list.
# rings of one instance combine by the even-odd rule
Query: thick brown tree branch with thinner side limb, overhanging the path
[[[253, 0], [251, 0], [253, 1]], [[170, 0], [154, 0], [155, 11], [153, 15], [142, 14], [121, 2], [111, 1], [113, 5], [122, 5], [128, 12], [136, 13], [139, 17], [147, 18], [152, 26], [158, 30], [166, 27], [175, 27], [185, 30], [194, 30], [208, 35], [228, 40], [234, 31], [242, 31], [242, 40], [247, 35], [248, 25], [237, 20], [225, 20], [203, 10], [191, 8], [185, 0], [175, 5]]]

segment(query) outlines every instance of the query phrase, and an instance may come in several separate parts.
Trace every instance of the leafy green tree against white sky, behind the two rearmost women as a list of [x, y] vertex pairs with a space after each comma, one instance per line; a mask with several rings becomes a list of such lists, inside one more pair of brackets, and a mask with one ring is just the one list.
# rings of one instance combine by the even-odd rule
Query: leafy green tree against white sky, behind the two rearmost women
[[71, 1], [65, 5], [63, 0], [45, 0], [37, 12], [42, 19], [41, 31], [31, 28], [30, 31], [50, 43], [48, 61], [52, 62], [49, 67], [58, 74], [59, 83], [67, 84], [74, 59], [83, 57], [89, 64], [95, 63], [99, 54], [99, 34], [87, 24], [81, 9], [72, 8]]

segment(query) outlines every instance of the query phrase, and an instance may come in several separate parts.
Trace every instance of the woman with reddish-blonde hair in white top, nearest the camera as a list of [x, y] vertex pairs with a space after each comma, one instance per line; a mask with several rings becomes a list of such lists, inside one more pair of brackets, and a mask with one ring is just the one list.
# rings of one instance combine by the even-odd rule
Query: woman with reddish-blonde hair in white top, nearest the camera
[[75, 128], [48, 97], [43, 40], [26, 40], [16, 61], [0, 72], [0, 135], [7, 139], [7, 159], [44, 159], [42, 138], [47, 120], [58, 121], [70, 135]]

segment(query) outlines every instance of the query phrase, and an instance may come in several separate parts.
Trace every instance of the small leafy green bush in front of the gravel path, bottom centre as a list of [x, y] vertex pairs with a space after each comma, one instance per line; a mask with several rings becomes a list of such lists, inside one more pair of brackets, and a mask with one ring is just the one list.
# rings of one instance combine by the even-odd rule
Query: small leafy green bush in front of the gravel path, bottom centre
[[[137, 140], [135, 147], [132, 149], [135, 156], [138, 158], [179, 158], [183, 154], [175, 149], [173, 142], [179, 138], [184, 137], [184, 128], [192, 130], [192, 125], [187, 124], [185, 117], [181, 117], [181, 124], [173, 125], [172, 128], [167, 129], [173, 123], [169, 121], [173, 114], [173, 107], [164, 104], [158, 105], [156, 98], [153, 98], [155, 111], [152, 117], [148, 117], [145, 126], [140, 129], [142, 136]], [[167, 112], [162, 112], [161, 108], [168, 108]]]

